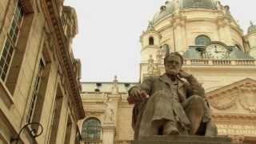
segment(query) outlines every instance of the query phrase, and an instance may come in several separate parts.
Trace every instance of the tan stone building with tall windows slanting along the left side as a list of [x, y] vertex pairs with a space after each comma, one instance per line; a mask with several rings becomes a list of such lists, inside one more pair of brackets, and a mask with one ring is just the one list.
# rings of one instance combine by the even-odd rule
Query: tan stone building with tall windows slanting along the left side
[[77, 31], [75, 10], [62, 0], [1, 0], [1, 144], [79, 143], [85, 114], [81, 63], [71, 48]]

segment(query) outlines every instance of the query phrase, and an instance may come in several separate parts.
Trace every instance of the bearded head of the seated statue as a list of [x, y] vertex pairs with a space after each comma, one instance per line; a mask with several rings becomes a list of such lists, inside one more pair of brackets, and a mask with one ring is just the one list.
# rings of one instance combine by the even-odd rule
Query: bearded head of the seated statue
[[178, 52], [166, 54], [164, 65], [166, 67], [166, 74], [176, 75], [182, 69], [183, 57]]

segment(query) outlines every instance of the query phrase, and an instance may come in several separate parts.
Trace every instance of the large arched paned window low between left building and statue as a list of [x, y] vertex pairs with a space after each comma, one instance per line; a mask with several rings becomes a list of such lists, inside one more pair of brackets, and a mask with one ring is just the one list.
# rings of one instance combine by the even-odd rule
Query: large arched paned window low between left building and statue
[[88, 118], [82, 123], [82, 140], [100, 140], [102, 133], [101, 122], [97, 118]]

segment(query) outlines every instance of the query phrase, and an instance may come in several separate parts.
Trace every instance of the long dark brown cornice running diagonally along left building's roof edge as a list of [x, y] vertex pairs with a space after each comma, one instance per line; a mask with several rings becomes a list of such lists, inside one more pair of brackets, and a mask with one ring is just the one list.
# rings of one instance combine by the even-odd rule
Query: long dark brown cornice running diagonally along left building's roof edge
[[65, 75], [69, 80], [68, 84], [70, 85], [71, 92], [73, 94], [73, 97], [71, 97], [71, 99], [77, 109], [76, 115], [78, 118], [83, 118], [85, 117], [85, 114], [83, 111], [82, 100], [80, 97], [80, 90], [74, 74], [73, 64], [68, 49], [67, 39], [64, 35], [64, 30], [62, 28], [62, 22], [58, 11], [58, 6], [54, 0], [46, 0], [45, 5], [48, 12], [46, 14], [50, 18], [50, 25], [52, 26], [54, 30], [54, 36], [58, 41], [58, 51], [60, 51], [60, 54], [62, 56], [62, 62], [65, 68]]

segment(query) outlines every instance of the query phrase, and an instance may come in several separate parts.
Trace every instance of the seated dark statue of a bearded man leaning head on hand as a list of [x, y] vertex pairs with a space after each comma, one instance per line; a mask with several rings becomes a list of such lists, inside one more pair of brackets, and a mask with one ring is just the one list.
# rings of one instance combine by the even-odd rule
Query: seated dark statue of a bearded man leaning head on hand
[[167, 54], [166, 74], [149, 77], [129, 90], [134, 103], [134, 139], [153, 135], [217, 135], [205, 91], [192, 74], [182, 70], [182, 55]]

